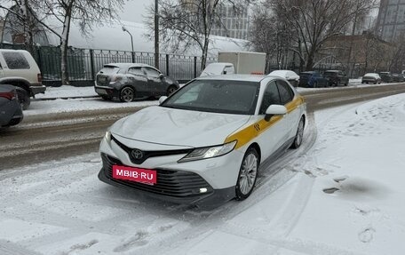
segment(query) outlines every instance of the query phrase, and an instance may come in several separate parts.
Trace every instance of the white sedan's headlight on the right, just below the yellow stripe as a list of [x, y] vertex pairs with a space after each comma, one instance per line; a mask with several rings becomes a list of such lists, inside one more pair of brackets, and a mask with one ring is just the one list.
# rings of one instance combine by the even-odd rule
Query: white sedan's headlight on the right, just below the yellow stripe
[[185, 155], [178, 162], [181, 163], [181, 162], [195, 161], [200, 159], [212, 158], [220, 155], [226, 155], [227, 153], [234, 150], [236, 142], [237, 141], [234, 140], [226, 144], [214, 147], [196, 147], [192, 152]]

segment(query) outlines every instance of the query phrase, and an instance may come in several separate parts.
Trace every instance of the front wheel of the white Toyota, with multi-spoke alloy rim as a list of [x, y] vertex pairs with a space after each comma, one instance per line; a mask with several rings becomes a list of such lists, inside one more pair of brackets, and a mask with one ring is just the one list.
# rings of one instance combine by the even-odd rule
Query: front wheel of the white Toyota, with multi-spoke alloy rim
[[236, 200], [242, 201], [252, 193], [256, 179], [258, 179], [258, 165], [258, 152], [255, 148], [250, 147], [243, 156], [238, 179], [236, 181]]

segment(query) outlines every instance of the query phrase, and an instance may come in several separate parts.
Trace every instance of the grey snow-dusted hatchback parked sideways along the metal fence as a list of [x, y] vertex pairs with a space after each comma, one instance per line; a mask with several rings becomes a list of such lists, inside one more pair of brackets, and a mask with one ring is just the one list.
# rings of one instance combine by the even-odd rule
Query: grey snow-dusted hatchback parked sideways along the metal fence
[[179, 82], [146, 64], [111, 63], [99, 70], [94, 88], [104, 100], [131, 102], [170, 95], [179, 89]]

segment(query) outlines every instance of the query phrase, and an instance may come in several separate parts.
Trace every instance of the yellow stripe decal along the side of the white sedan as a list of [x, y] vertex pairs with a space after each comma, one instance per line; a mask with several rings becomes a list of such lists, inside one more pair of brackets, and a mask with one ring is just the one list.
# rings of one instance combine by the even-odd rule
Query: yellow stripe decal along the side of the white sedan
[[[303, 104], [305, 99], [302, 96], [298, 96], [296, 100], [290, 101], [285, 107], [287, 108], [287, 113], [292, 112], [298, 106]], [[228, 136], [225, 139], [224, 143], [231, 142], [237, 140], [237, 144], [234, 147], [235, 149], [244, 146], [245, 144], [249, 143], [250, 140], [256, 138], [259, 134], [266, 131], [272, 125], [276, 124], [282, 119], [282, 116], [274, 116], [270, 119], [270, 121], [266, 121], [265, 119], [259, 120], [255, 124], [251, 124], [250, 126], [242, 129], [241, 131], [237, 131], [234, 134]]]

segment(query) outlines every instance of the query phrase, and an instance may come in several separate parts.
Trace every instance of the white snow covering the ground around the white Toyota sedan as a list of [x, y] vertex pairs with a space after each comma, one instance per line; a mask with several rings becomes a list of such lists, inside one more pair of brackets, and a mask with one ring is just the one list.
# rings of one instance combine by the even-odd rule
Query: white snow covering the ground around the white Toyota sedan
[[0, 254], [400, 255], [404, 127], [405, 94], [315, 112], [303, 147], [212, 211], [100, 182], [97, 152], [3, 170]]

